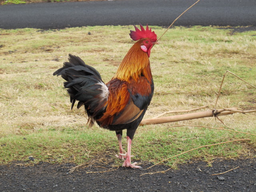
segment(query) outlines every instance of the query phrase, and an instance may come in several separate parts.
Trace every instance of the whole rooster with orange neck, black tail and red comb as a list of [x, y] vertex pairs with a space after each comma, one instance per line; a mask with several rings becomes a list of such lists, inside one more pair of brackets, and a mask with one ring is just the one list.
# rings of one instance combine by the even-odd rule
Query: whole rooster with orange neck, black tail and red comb
[[[56, 70], [53, 75], [61, 75], [64, 87], [70, 95], [73, 108], [84, 105], [90, 126], [96, 122], [100, 127], [116, 132], [119, 144], [117, 158], [124, 160], [123, 167], [140, 168], [131, 163], [132, 139], [154, 93], [154, 82], [150, 70], [150, 50], [158, 44], [157, 36], [151, 28], [146, 30], [140, 24], [130, 37], [136, 41], [122, 60], [116, 74], [104, 83], [99, 72], [86, 65], [78, 56], [69, 54], [69, 62]], [[122, 130], [127, 129], [127, 152], [122, 147]]]

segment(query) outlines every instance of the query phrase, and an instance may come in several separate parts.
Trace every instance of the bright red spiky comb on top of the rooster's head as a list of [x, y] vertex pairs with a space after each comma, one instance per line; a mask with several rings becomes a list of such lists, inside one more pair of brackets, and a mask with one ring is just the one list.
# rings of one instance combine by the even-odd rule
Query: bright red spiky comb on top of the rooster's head
[[130, 30], [130, 37], [132, 38], [132, 40], [137, 41], [141, 38], [150, 38], [152, 41], [156, 41], [157, 37], [155, 32], [151, 31], [151, 28], [148, 29], [148, 24], [146, 26], [146, 30], [143, 28], [143, 26], [140, 24], [140, 30], [138, 29], [138, 27], [134, 26], [135, 31]]

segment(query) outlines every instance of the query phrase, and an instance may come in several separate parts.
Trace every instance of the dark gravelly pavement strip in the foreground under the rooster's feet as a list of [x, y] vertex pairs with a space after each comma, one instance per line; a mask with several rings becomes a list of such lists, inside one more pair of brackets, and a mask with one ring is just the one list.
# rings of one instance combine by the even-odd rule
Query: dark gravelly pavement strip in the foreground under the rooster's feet
[[190, 161], [165, 173], [145, 174], [170, 168], [157, 165], [147, 170], [151, 165], [141, 164], [141, 170], [115, 167], [110, 172], [102, 171], [111, 165], [81, 166], [72, 173], [76, 165], [69, 163], [0, 165], [0, 192], [256, 192], [256, 158], [217, 159], [211, 166]]

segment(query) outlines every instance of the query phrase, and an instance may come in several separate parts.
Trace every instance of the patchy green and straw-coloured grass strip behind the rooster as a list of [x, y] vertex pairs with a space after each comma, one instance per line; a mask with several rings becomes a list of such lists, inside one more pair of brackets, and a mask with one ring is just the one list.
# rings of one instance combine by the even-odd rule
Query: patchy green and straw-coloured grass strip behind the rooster
[[[0, 162], [24, 162], [33, 156], [34, 162], [121, 165], [114, 157], [118, 153], [115, 133], [97, 126], [87, 128], [84, 111], [70, 110], [63, 80], [52, 73], [72, 53], [108, 82], [134, 43], [128, 35], [132, 28], [0, 29]], [[158, 36], [165, 30], [152, 28]], [[226, 70], [256, 85], [255, 49], [255, 31], [232, 33], [202, 26], [170, 29], [151, 52], [155, 92], [144, 118], [206, 104], [213, 108]], [[218, 108], [255, 109], [255, 94], [255, 89], [228, 74]], [[256, 118], [251, 115], [221, 119], [235, 130], [256, 134]], [[214, 118], [139, 127], [132, 146], [134, 160], [159, 162], [198, 146], [241, 138], [251, 141], [201, 148], [167, 164], [194, 158], [210, 162], [216, 157], [255, 156], [255, 136], [206, 128], [169, 128], [181, 124], [223, 127]], [[126, 146], [125, 138], [123, 143]]]

